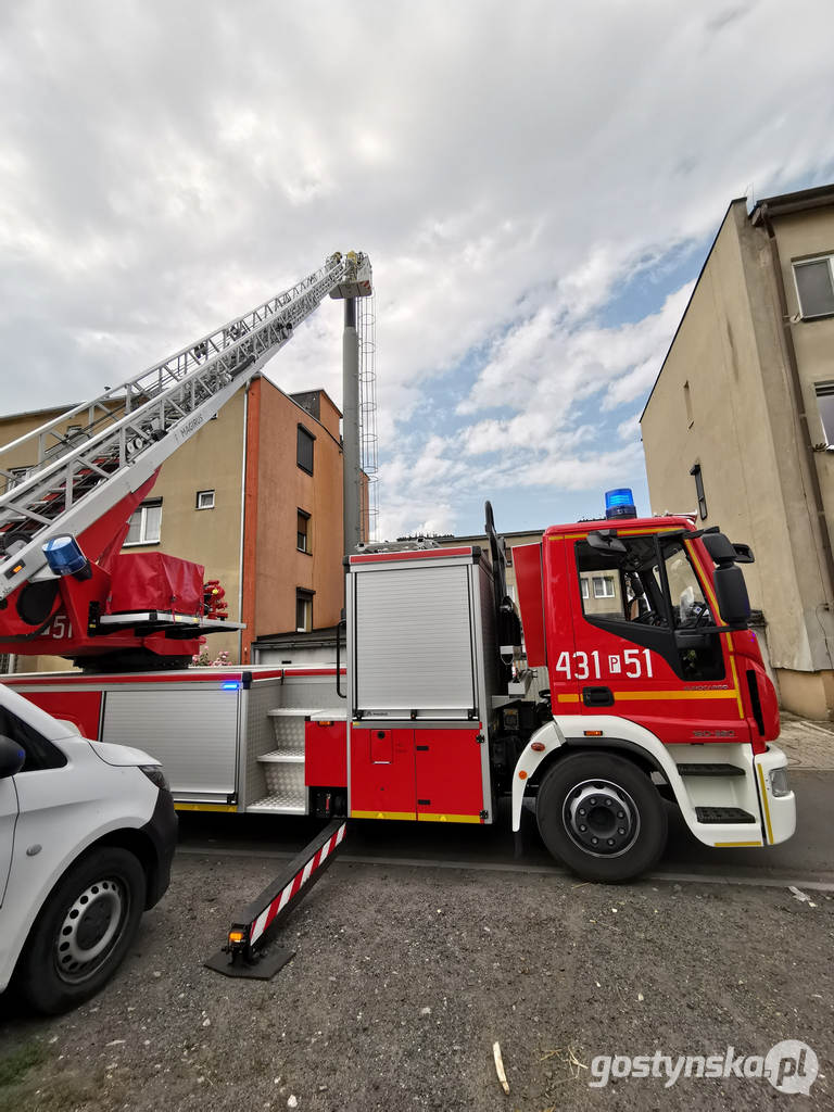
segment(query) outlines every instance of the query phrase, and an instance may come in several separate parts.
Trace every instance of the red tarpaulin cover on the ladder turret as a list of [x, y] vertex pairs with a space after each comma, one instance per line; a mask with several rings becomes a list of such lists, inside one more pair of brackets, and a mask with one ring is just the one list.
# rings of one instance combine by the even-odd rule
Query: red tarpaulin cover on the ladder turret
[[200, 614], [205, 572], [201, 564], [165, 553], [120, 553], [113, 562], [107, 613]]

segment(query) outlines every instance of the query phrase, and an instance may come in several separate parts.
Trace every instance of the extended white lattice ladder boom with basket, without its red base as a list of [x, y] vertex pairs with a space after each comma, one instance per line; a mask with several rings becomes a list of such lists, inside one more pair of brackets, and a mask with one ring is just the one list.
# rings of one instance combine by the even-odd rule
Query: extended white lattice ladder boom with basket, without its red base
[[[329, 295], [365, 296], [364, 255], [330, 256], [290, 289], [229, 321], [163, 363], [0, 448], [31, 445], [22, 480], [0, 469], [0, 599], [37, 575], [43, 545], [78, 535], [137, 490], [181, 444], [287, 342]], [[66, 434], [67, 423], [80, 428]]]

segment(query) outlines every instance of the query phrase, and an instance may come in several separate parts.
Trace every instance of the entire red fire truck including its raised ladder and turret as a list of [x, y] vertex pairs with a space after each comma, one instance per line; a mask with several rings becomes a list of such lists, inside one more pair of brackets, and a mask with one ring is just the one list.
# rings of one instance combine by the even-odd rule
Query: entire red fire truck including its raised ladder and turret
[[[506, 797], [514, 831], [532, 812], [556, 857], [603, 881], [658, 858], [666, 801], [709, 846], [790, 837], [776, 696], [747, 626], [752, 553], [685, 516], [637, 518], [622, 492], [605, 518], [513, 549], [519, 609], [488, 508], [485, 548], [347, 557], [344, 668], [159, 671], [222, 618], [207, 618], [201, 568], [120, 554], [128, 517], [295, 322], [368, 291], [363, 262], [334, 256], [78, 407], [81, 443], [60, 423], [31, 434], [38, 465], [0, 496], [0, 648], [122, 657], [6, 682], [91, 739], [151, 753], [181, 810], [486, 824]], [[152, 669], [116, 671], [125, 653]]]

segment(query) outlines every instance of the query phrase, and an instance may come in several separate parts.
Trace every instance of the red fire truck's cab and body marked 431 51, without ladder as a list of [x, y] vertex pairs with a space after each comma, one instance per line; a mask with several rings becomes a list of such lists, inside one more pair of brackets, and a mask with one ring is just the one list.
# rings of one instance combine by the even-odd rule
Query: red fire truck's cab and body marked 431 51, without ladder
[[8, 682], [89, 737], [141, 744], [182, 810], [493, 823], [509, 797], [515, 831], [530, 811], [556, 857], [605, 881], [658, 858], [665, 801], [709, 846], [790, 837], [749, 549], [688, 517], [554, 526], [513, 549], [519, 623], [487, 525], [490, 553], [350, 556], [344, 668]]

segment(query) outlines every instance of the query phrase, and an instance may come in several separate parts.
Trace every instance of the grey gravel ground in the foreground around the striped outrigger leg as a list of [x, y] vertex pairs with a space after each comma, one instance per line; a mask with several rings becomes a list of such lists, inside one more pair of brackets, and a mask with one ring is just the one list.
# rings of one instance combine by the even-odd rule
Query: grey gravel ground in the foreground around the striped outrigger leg
[[[0, 1110], [834, 1108], [831, 896], [336, 862], [288, 921], [296, 956], [274, 981], [203, 969], [276, 871], [178, 857], [97, 999], [53, 1020], [0, 1000]], [[818, 1055], [810, 1096], [763, 1079], [588, 1085], [598, 1054], [783, 1039]]]

